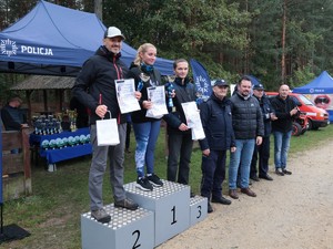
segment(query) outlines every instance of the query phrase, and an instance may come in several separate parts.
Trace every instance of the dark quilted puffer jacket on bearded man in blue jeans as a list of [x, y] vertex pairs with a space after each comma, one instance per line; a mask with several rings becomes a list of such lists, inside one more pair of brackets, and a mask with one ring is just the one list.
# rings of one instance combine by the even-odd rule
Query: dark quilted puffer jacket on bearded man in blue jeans
[[232, 126], [236, 139], [253, 139], [264, 135], [262, 113], [253, 96], [236, 93], [230, 97]]

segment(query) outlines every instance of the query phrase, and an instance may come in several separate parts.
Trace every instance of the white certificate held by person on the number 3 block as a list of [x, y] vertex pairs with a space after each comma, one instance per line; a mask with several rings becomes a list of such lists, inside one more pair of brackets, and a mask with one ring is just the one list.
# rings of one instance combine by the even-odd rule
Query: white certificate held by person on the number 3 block
[[188, 126], [191, 128], [192, 132], [192, 139], [203, 139], [205, 135], [202, 127], [200, 113], [196, 107], [196, 103], [194, 101], [182, 103], [182, 107], [184, 110]]

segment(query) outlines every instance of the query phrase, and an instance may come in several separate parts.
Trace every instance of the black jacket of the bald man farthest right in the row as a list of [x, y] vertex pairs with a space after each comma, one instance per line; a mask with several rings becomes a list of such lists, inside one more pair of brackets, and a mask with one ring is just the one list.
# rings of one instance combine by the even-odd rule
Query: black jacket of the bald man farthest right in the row
[[278, 117], [276, 121], [272, 122], [272, 129], [286, 133], [293, 129], [293, 118], [294, 116], [290, 115], [290, 111], [296, 107], [295, 102], [290, 97], [286, 96], [285, 100], [282, 100], [280, 95], [276, 95], [271, 98], [271, 104], [275, 110], [275, 115]]

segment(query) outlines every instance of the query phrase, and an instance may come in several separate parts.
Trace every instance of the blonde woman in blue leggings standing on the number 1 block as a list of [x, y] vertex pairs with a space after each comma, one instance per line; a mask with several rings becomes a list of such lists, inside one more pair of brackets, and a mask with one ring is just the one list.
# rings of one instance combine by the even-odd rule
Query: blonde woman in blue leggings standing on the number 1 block
[[[153, 104], [148, 96], [147, 89], [162, 85], [161, 73], [154, 68], [155, 60], [157, 48], [153, 44], [144, 43], [140, 45], [129, 74], [135, 81], [137, 91], [142, 94], [139, 101], [141, 110], [133, 112], [131, 117], [137, 141], [137, 187], [145, 191], [152, 190], [153, 186], [163, 186], [161, 179], [154, 174], [154, 151], [160, 133], [161, 118], [145, 116], [147, 111]], [[145, 172], [144, 166], [147, 166]]]

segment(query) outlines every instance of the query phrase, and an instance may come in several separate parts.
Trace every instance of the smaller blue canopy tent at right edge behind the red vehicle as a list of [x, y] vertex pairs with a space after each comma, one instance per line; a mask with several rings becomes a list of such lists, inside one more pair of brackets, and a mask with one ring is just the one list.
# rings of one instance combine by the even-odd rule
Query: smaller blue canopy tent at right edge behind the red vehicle
[[293, 89], [293, 93], [304, 94], [317, 107], [326, 110], [330, 114], [330, 122], [333, 121], [333, 79], [326, 71], [309, 84]]

